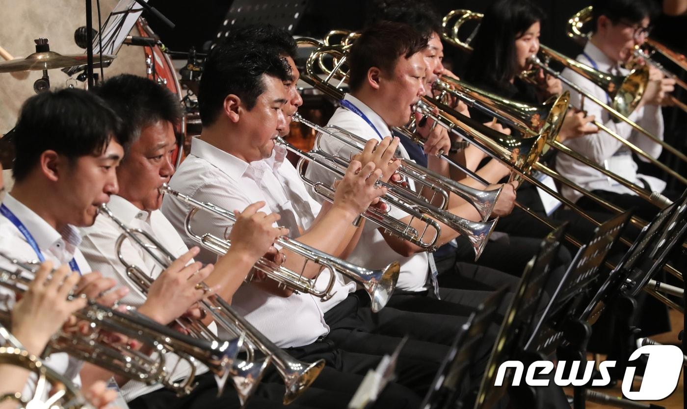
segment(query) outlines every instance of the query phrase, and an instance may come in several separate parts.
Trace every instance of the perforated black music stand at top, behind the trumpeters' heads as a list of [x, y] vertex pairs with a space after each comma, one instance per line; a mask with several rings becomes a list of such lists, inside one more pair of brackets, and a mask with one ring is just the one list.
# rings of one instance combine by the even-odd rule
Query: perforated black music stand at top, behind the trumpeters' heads
[[212, 38], [212, 47], [227, 38], [231, 30], [251, 24], [269, 23], [293, 33], [306, 5], [306, 0], [234, 0]]

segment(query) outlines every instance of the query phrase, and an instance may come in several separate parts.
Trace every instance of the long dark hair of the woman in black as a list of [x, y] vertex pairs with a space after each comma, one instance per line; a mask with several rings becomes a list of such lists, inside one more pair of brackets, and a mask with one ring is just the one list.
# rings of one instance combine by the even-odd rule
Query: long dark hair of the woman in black
[[515, 40], [543, 18], [543, 11], [528, 0], [492, 3], [472, 41], [474, 51], [466, 62], [464, 79], [499, 88], [506, 86], [518, 73]]

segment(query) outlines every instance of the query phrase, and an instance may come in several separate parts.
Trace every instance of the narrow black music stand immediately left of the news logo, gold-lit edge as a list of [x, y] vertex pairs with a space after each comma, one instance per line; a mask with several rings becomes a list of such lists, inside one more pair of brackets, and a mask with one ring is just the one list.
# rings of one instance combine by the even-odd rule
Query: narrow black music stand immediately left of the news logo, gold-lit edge
[[[497, 369], [506, 360], [520, 358], [519, 349], [534, 317], [539, 313], [543, 301], [544, 289], [549, 279], [551, 261], [561, 246], [567, 224], [552, 231], [541, 243], [539, 253], [535, 255], [525, 271], [513, 296], [504, 321], [499, 329], [494, 348], [476, 395], [469, 395], [466, 404], [475, 409], [491, 408], [506, 394], [513, 371], [506, 371], [504, 386], [494, 386]], [[533, 390], [518, 391], [518, 404], [523, 408], [537, 408], [537, 395]], [[472, 405], [472, 400], [474, 405]], [[515, 399], [513, 399], [515, 401]], [[513, 402], [515, 403], [515, 402]], [[467, 406], [467, 405], [466, 405]]]

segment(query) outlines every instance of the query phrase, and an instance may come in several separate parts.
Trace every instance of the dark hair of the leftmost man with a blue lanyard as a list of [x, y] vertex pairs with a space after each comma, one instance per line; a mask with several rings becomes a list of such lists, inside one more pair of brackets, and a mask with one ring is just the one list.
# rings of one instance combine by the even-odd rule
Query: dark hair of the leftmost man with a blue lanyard
[[14, 128], [16, 158], [12, 175], [21, 182], [46, 150], [71, 161], [100, 154], [112, 137], [126, 145], [122, 121], [102, 98], [81, 89], [61, 89], [30, 97]]

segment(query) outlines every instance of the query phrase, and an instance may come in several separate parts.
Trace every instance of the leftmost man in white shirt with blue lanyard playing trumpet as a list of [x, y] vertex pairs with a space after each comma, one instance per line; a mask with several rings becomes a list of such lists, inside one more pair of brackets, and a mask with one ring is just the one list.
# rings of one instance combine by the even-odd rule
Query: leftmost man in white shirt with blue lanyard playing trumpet
[[[91, 273], [78, 250], [81, 237], [75, 226], [93, 224], [98, 206], [117, 191], [114, 169], [124, 143], [119, 129], [115, 113], [92, 93], [65, 89], [30, 98], [16, 125], [12, 170], [16, 183], [0, 206], [3, 253], [20, 261], [68, 264], [73, 274], [82, 276], [75, 292], [105, 305], [112, 305], [128, 290], [108, 292], [115, 282]], [[14, 270], [4, 260], [0, 265]], [[0, 289], [0, 307], [12, 309], [14, 303], [15, 294]], [[18, 332], [30, 347], [32, 340]], [[54, 353], [46, 361], [80, 382], [79, 360]]]

